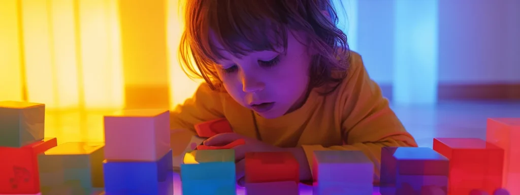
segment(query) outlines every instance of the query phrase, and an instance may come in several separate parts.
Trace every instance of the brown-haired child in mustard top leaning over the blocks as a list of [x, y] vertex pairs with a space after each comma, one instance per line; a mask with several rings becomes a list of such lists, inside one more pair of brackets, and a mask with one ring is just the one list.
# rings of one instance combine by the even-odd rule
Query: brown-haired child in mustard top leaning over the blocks
[[377, 182], [381, 147], [417, 147], [348, 49], [329, 0], [187, 2], [180, 55], [205, 83], [171, 113], [174, 150], [196, 135], [193, 125], [226, 118], [234, 133], [204, 145], [246, 140], [233, 148], [242, 184], [246, 152], [292, 152], [308, 181], [313, 151], [361, 150]]

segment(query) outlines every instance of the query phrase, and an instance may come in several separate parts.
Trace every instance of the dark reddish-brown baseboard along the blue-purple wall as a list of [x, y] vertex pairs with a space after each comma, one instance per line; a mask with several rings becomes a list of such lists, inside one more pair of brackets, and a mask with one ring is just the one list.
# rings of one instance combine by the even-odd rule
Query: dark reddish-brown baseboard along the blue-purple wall
[[[383, 96], [392, 100], [392, 85], [380, 84]], [[437, 87], [438, 100], [520, 100], [520, 83], [449, 84]]]

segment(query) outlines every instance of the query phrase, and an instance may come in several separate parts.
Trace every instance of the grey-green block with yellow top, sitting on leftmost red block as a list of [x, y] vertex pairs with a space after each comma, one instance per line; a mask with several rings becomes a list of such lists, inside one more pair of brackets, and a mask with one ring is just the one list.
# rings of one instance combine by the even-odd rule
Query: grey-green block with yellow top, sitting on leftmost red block
[[44, 137], [45, 105], [0, 101], [0, 146], [19, 148]]

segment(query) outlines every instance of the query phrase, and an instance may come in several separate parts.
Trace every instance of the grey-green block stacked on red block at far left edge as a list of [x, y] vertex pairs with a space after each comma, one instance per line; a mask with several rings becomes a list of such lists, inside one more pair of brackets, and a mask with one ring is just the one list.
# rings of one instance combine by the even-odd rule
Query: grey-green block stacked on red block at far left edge
[[37, 155], [57, 146], [44, 138], [45, 105], [0, 101], [0, 194], [41, 192]]

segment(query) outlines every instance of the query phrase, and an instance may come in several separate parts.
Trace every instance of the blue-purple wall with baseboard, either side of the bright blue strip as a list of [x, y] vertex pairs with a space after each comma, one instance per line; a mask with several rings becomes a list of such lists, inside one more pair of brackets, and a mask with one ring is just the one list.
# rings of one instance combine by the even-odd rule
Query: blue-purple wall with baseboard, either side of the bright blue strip
[[[399, 44], [395, 5], [358, 1], [356, 9], [357, 51], [388, 97]], [[518, 54], [520, 1], [438, 0], [439, 99], [520, 99]]]

